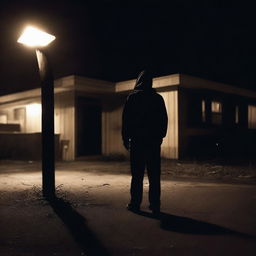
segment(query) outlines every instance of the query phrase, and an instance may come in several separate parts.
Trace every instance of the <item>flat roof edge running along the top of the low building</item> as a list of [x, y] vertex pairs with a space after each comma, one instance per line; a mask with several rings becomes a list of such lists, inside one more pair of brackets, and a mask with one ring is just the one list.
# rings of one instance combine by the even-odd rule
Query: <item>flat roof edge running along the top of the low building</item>
[[[83, 91], [89, 93], [120, 93], [132, 91], [136, 79], [112, 83], [104, 80], [82, 76], [66, 76], [54, 81], [54, 92]], [[199, 77], [185, 74], [172, 74], [153, 78], [153, 88], [178, 89], [179, 87], [191, 89], [207, 89], [228, 94], [235, 94], [248, 98], [256, 98], [256, 92], [232, 85], [218, 83]], [[41, 96], [40, 88], [0, 96], [0, 105], [19, 100], [26, 100]]]

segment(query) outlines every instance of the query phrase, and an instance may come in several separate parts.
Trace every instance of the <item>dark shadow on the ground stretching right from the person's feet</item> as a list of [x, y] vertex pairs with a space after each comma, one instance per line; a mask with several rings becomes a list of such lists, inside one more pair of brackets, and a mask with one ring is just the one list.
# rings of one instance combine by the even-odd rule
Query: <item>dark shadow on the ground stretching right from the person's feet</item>
[[140, 211], [137, 214], [148, 218], [159, 219], [160, 227], [164, 230], [172, 232], [198, 235], [234, 235], [244, 238], [253, 237], [251, 235], [237, 232], [219, 225], [163, 212], [158, 216], [145, 211]]

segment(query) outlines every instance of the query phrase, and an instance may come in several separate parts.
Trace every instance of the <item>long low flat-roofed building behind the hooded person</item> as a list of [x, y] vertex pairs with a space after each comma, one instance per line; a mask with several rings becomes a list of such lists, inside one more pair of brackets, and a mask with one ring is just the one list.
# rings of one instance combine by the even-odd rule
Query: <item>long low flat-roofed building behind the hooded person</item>
[[[135, 79], [112, 83], [81, 76], [55, 80], [56, 158], [128, 156], [122, 110]], [[162, 157], [255, 153], [256, 92], [184, 74], [153, 79], [168, 112]], [[41, 157], [41, 90], [0, 96], [0, 159]]]

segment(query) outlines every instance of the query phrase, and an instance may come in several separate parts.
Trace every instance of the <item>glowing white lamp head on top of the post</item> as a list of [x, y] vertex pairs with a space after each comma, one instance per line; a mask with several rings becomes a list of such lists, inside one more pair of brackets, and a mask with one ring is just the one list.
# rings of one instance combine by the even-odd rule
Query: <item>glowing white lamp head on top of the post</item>
[[50, 44], [56, 37], [35, 27], [28, 26], [18, 39], [18, 43], [30, 47], [42, 47]]

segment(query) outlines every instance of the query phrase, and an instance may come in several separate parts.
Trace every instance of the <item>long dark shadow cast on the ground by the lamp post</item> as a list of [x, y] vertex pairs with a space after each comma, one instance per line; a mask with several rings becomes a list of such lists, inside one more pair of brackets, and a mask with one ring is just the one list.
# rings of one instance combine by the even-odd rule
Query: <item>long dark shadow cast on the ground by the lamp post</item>
[[109, 252], [101, 244], [86, 224], [86, 219], [71, 204], [62, 198], [53, 197], [49, 200], [54, 212], [66, 225], [74, 240], [88, 256], [109, 256]]

